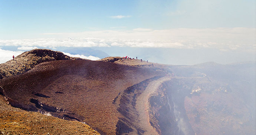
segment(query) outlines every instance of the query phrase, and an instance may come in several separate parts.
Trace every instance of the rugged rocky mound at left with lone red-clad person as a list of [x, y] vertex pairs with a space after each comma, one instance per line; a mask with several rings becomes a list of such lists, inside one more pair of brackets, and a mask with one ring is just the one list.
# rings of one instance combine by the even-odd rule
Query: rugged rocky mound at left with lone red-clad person
[[82, 58], [69, 57], [60, 51], [53, 51], [49, 49], [34, 49], [26, 51], [15, 57], [14, 60], [9, 60], [6, 63], [0, 64], [0, 79], [10, 77], [12, 75], [23, 74], [35, 67], [37, 64], [46, 61], [76, 59]]

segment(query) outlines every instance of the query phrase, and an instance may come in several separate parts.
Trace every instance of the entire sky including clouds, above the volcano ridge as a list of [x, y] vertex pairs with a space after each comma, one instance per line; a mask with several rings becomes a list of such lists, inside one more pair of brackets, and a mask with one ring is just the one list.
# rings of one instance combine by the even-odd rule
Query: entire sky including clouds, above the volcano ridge
[[182, 54], [164, 64], [228, 64], [255, 61], [255, 37], [255, 0], [0, 0], [0, 63], [33, 48], [96, 47]]

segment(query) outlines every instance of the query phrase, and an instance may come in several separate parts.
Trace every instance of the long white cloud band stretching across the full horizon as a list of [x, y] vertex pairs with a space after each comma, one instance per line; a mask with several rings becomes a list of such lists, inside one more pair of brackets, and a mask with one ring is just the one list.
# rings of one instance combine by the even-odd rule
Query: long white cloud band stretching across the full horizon
[[[38, 48], [56, 47], [161, 47], [216, 48], [219, 50], [254, 51], [256, 28], [176, 28], [152, 30], [135, 28], [130, 31], [104, 30], [81, 33], [49, 33], [51, 37], [22, 40], [0, 40], [0, 46]], [[46, 33], [45, 33], [46, 34]], [[70, 38], [72, 40], [70, 40]]]

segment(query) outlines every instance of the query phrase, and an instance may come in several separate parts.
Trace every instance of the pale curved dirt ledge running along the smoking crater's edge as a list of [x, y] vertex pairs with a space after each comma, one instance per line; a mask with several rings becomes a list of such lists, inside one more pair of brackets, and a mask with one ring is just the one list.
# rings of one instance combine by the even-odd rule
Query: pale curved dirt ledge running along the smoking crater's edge
[[157, 131], [150, 125], [150, 117], [148, 114], [148, 108], [149, 108], [149, 102], [148, 98], [150, 94], [155, 92], [159, 85], [163, 83], [164, 81], [170, 80], [170, 77], [162, 77], [158, 80], [150, 82], [148, 84], [148, 87], [145, 89], [145, 91], [140, 94], [140, 96], [137, 98], [136, 101], [136, 110], [138, 111], [138, 114], [140, 115], [140, 125], [142, 126], [143, 130], [145, 131], [145, 135], [158, 135]]

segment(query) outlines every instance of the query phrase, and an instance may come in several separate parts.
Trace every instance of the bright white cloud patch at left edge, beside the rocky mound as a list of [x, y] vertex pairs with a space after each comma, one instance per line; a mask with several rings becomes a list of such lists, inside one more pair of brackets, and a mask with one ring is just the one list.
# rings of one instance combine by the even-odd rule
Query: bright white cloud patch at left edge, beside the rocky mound
[[9, 51], [0, 49], [0, 63], [5, 63], [9, 60], [12, 60], [13, 55], [14, 57], [16, 57], [17, 55], [20, 55], [22, 53], [23, 51]]

